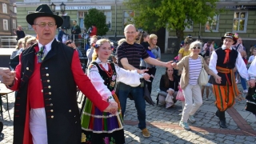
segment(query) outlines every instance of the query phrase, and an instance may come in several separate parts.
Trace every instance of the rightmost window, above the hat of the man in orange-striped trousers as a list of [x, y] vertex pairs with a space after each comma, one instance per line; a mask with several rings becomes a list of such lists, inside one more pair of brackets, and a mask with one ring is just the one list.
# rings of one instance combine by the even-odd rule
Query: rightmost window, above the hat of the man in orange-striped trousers
[[248, 13], [245, 11], [235, 11], [233, 20], [233, 31], [246, 32]]

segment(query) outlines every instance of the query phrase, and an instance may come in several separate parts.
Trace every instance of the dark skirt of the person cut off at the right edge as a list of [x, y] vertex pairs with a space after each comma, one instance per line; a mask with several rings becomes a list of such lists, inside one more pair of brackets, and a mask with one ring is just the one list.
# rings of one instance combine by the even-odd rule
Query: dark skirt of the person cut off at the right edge
[[256, 86], [249, 88], [246, 100], [246, 110], [256, 115]]

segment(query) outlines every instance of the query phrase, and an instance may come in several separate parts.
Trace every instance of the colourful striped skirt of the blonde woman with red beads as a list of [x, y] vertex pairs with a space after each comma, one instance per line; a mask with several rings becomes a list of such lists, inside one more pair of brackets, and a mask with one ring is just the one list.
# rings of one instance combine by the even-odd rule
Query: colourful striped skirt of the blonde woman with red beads
[[[116, 102], [118, 98], [113, 97]], [[123, 144], [125, 143], [122, 113], [118, 102], [118, 114], [98, 110], [88, 98], [82, 110], [82, 143], [90, 144]]]

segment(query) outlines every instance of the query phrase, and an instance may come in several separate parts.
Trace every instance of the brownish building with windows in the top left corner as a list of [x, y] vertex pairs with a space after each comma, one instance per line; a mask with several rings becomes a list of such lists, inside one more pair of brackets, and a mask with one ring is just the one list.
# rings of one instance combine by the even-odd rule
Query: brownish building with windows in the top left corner
[[14, 35], [17, 8], [14, 0], [0, 0], [0, 36]]

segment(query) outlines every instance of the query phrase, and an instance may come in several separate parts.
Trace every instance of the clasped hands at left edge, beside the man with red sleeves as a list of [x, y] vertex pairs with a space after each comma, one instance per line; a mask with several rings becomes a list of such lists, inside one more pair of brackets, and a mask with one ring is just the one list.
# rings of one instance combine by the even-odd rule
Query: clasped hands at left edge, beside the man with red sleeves
[[2, 76], [2, 83], [7, 86], [13, 85], [16, 76], [15, 71], [10, 71], [8, 68], [0, 68], [0, 75]]

